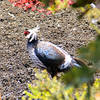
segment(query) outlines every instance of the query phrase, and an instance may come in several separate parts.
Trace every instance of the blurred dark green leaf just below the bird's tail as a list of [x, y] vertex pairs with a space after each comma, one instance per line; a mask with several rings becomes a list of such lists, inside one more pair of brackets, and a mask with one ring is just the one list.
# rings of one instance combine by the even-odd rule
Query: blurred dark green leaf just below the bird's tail
[[72, 68], [62, 76], [64, 83], [79, 86], [84, 82], [89, 82], [93, 78], [94, 71], [88, 67]]

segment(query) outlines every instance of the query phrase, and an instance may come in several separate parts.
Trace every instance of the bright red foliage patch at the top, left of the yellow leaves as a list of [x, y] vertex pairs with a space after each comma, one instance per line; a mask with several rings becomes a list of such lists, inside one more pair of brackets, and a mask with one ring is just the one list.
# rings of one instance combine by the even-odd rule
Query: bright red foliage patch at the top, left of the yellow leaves
[[50, 10], [44, 9], [45, 5], [39, 0], [8, 0], [15, 7], [23, 8], [25, 11], [32, 9], [32, 11], [37, 11], [39, 13], [49, 15], [52, 12]]

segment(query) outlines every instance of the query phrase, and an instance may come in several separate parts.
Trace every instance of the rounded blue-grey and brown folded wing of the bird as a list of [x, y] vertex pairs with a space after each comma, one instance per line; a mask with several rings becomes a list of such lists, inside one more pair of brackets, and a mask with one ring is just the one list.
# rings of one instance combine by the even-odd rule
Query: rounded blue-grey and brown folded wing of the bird
[[65, 55], [60, 48], [50, 42], [38, 43], [35, 52], [40, 61], [47, 67], [60, 66], [65, 60]]

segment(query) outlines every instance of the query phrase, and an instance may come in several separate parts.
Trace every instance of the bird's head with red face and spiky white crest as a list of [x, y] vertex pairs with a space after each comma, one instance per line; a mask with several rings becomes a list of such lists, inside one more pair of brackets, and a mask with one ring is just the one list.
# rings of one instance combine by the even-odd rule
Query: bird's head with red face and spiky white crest
[[39, 32], [39, 26], [37, 26], [33, 29], [25, 30], [24, 35], [26, 38], [28, 38], [29, 42], [32, 42], [33, 40], [38, 39], [37, 32]]

